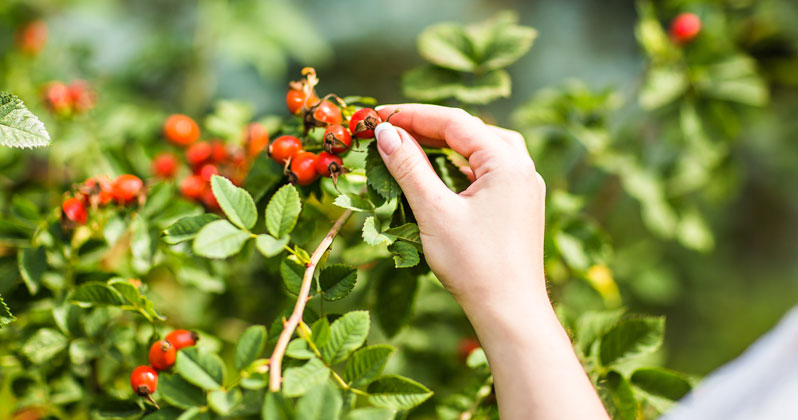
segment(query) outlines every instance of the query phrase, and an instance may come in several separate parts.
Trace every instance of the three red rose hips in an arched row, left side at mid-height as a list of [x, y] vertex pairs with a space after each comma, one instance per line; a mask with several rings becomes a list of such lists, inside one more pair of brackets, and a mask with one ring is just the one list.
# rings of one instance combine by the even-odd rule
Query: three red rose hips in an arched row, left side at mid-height
[[106, 176], [89, 178], [61, 203], [62, 219], [75, 225], [85, 224], [88, 209], [105, 207], [112, 202], [121, 206], [141, 204], [145, 198], [141, 178], [123, 174], [111, 181]]

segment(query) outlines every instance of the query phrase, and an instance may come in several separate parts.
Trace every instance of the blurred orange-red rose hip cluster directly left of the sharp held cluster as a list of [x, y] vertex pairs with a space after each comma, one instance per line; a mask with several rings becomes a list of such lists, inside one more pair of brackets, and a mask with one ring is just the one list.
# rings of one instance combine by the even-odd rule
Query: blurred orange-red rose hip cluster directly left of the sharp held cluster
[[[213, 175], [222, 175], [234, 184], [243, 183], [254, 158], [269, 145], [269, 133], [263, 124], [247, 126], [241, 145], [228, 145], [222, 140], [200, 140], [200, 129], [189, 116], [173, 114], [166, 119], [163, 135], [177, 146], [185, 148], [185, 162], [191, 174], [180, 181], [184, 197], [202, 203], [208, 210], [218, 210], [219, 204], [211, 191]], [[180, 168], [177, 155], [162, 152], [152, 161], [153, 175], [173, 179]]]

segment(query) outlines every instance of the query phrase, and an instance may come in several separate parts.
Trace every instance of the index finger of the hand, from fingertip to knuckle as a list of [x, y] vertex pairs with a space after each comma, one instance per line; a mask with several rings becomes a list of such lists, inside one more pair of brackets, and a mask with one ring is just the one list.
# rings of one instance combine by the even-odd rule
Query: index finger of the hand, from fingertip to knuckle
[[482, 120], [459, 108], [424, 104], [378, 108], [383, 120], [398, 108], [400, 112], [391, 116], [391, 124], [431, 140], [443, 140], [466, 159], [477, 150], [490, 150], [497, 144], [497, 136]]

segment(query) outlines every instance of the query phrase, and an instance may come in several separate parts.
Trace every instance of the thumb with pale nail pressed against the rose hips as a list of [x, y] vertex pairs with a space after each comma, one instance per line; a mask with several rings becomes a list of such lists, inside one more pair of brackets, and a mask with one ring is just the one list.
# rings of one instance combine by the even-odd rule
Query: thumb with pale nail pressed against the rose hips
[[374, 129], [377, 150], [415, 211], [454, 194], [432, 169], [418, 142], [404, 130], [384, 122]]

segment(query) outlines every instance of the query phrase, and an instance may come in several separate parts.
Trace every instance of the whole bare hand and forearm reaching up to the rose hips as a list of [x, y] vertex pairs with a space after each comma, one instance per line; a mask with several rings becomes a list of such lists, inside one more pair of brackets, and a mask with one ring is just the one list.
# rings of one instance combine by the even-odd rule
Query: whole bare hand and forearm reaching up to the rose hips
[[[543, 273], [546, 186], [520, 134], [463, 110], [380, 107], [377, 145], [413, 209], [424, 257], [485, 350], [502, 419], [609, 419], [559, 323]], [[460, 194], [420, 144], [468, 159]]]

